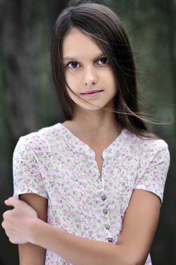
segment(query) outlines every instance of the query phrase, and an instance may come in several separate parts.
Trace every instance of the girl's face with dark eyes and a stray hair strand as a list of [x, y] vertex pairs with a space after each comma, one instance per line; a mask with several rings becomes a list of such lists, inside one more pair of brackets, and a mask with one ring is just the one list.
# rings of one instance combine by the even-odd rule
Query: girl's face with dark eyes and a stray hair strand
[[[67, 34], [62, 44], [65, 77], [70, 88], [88, 103], [77, 98], [68, 88], [71, 99], [86, 110], [114, 108], [116, 80], [108, 58], [86, 34], [79, 29]], [[67, 57], [67, 58], [66, 58]], [[87, 90], [103, 90], [94, 97], [83, 95]], [[95, 107], [89, 102], [98, 105]]]

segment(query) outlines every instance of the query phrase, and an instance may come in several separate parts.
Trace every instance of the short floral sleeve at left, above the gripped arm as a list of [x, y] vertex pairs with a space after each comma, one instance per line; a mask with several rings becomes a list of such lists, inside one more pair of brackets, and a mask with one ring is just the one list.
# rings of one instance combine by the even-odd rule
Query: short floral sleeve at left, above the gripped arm
[[23, 193], [48, 198], [37, 159], [29, 144], [20, 138], [13, 152], [13, 197], [19, 198], [18, 195]]

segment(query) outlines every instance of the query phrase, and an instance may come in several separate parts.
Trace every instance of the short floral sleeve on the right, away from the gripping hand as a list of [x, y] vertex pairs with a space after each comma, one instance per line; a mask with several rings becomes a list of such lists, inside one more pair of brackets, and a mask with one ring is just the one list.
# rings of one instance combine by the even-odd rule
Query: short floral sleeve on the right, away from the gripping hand
[[[167, 143], [164, 140], [161, 141], [164, 144], [159, 147], [159, 150], [155, 151], [155, 155], [149, 164], [144, 162], [141, 164], [141, 168], [139, 167], [138, 171], [142, 172], [143, 168], [145, 168], [145, 171], [141, 177], [137, 175], [133, 189], [141, 189], [155, 193], [159, 196], [162, 205], [165, 181], [170, 165], [170, 153]], [[150, 155], [150, 152], [145, 153]]]

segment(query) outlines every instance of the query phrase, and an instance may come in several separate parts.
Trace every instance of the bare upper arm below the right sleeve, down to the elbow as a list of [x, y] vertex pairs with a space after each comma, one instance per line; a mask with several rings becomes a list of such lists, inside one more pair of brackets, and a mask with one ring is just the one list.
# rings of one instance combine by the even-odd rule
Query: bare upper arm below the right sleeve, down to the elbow
[[160, 198], [150, 191], [134, 189], [117, 245], [124, 246], [134, 264], [144, 265], [158, 227]]

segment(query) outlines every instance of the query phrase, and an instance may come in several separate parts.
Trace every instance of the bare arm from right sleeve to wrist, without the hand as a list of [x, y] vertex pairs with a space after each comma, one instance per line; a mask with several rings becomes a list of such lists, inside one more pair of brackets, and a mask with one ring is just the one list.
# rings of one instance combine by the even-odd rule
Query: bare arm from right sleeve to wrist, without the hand
[[144, 265], [158, 226], [160, 204], [154, 193], [134, 189], [117, 244], [75, 236], [39, 219], [31, 225], [31, 242], [73, 265]]

